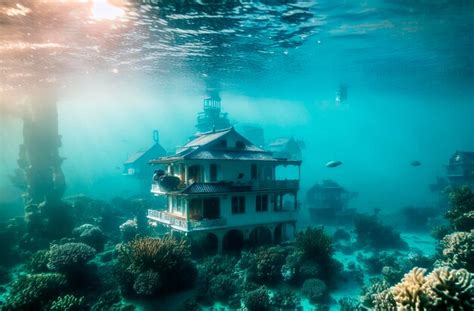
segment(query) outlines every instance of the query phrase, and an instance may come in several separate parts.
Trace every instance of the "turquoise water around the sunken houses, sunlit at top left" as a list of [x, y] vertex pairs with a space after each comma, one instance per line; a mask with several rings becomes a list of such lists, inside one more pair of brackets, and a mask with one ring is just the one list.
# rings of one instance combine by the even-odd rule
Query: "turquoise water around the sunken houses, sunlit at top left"
[[[378, 219], [402, 232], [409, 247], [399, 257], [433, 256], [439, 239], [430, 231], [446, 222], [449, 205], [430, 185], [446, 178], [457, 150], [474, 151], [473, 28], [474, 2], [462, 0], [0, 0], [0, 220], [25, 216], [28, 183], [11, 177], [19, 146], [28, 145], [24, 125], [51, 105], [57, 117], [47, 115], [39, 128], [51, 125], [62, 144], [36, 155], [64, 158], [54, 163], [66, 181], [65, 202], [84, 195], [113, 206], [117, 223], [99, 226], [110, 251], [123, 242], [118, 225], [138, 217], [131, 201], [116, 198], [151, 197], [151, 177], [125, 176], [124, 162], [153, 145], [154, 130], [173, 153], [196, 132], [202, 101], [212, 97], [236, 129], [259, 126], [265, 144], [304, 142], [299, 230], [318, 225], [306, 192], [330, 179], [357, 193], [347, 208], [379, 210]], [[326, 167], [334, 160], [342, 165]], [[401, 220], [407, 207], [433, 214], [413, 231]], [[350, 225], [325, 225], [330, 235], [344, 228], [357, 239]], [[22, 264], [33, 250], [73, 238], [55, 236], [41, 247], [33, 239], [38, 247], [26, 251], [20, 237], [31, 232], [21, 230], [10, 239], [11, 262], [0, 263], [16, 269], [13, 278], [31, 273]], [[334, 253], [346, 270], [374, 253], [343, 254], [346, 246]], [[366, 282], [377, 275], [362, 270]], [[360, 294], [361, 284], [348, 284], [331, 289], [328, 305], [337, 309], [338, 299]], [[74, 293], [90, 307], [90, 291], [82, 290]], [[170, 294], [178, 298], [165, 299], [166, 309], [188, 293]]]

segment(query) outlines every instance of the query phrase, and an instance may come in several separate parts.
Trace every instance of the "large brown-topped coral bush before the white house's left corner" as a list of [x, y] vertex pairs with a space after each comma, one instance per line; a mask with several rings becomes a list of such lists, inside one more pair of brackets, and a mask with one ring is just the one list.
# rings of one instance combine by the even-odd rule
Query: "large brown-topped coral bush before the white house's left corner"
[[155, 296], [189, 288], [197, 276], [189, 245], [169, 236], [121, 244], [117, 259], [115, 272], [126, 295]]

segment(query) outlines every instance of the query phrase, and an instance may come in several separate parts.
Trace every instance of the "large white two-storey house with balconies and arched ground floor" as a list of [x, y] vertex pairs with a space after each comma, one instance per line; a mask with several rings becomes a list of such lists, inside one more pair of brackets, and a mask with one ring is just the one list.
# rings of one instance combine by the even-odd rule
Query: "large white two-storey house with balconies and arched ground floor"
[[[151, 192], [167, 198], [164, 209], [148, 211], [152, 224], [215, 251], [294, 237], [301, 161], [276, 158], [228, 128], [201, 133], [151, 163], [166, 167], [155, 171]], [[293, 166], [296, 176], [278, 179], [280, 166]]]

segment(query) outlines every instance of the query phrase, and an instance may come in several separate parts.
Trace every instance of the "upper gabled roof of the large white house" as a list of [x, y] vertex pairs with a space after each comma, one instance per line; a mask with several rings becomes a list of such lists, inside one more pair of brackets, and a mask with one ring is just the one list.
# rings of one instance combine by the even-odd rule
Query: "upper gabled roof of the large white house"
[[[212, 145], [212, 143], [227, 135], [235, 135], [236, 140], [242, 141], [244, 143], [242, 148]], [[232, 127], [199, 134], [195, 139], [179, 148], [176, 154], [152, 160], [150, 163], [169, 163], [178, 160], [286, 161], [287, 159], [275, 158], [271, 152], [255, 146]]]

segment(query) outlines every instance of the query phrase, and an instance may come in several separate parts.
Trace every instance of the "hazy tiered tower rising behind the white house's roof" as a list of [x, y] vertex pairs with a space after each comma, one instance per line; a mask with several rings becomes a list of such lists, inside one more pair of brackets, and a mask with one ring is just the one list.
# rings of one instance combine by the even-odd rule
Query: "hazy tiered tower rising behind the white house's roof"
[[203, 111], [198, 113], [196, 128], [198, 133], [205, 133], [230, 127], [227, 113], [222, 112], [220, 98], [206, 98]]

